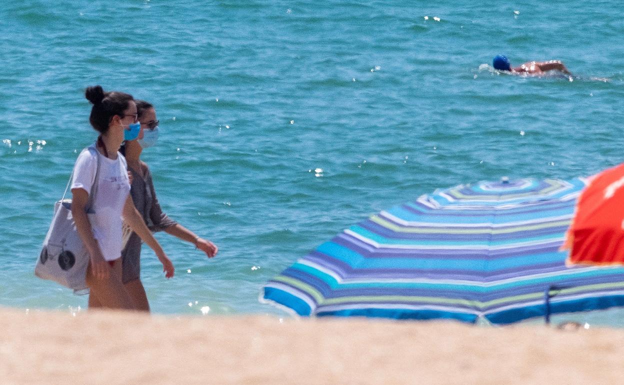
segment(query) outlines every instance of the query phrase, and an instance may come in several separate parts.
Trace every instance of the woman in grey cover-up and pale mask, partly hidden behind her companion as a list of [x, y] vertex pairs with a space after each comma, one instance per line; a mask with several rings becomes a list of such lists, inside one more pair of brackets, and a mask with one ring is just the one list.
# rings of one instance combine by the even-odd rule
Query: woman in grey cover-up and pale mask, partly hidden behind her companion
[[[152, 147], [158, 140], [158, 119], [156, 110], [152, 104], [144, 100], [136, 100], [137, 114], [139, 115], [140, 132], [137, 140], [125, 142], [120, 152], [125, 155], [128, 162], [128, 171], [132, 177], [130, 195], [134, 205], [142, 215], [145, 224], [152, 231], [165, 231], [181, 240], [192, 243], [202, 250], [208, 258], [217, 255], [217, 246], [209, 240], [188, 230], [177, 222], [174, 222], [167, 214], [163, 213], [152, 182], [152, 173], [147, 164], [140, 159], [144, 149]], [[145, 295], [145, 288], [140, 280], [140, 254], [141, 240], [136, 233], [130, 235], [124, 250], [122, 251], [123, 282], [132, 300], [139, 310], [149, 311], [150, 306]]]

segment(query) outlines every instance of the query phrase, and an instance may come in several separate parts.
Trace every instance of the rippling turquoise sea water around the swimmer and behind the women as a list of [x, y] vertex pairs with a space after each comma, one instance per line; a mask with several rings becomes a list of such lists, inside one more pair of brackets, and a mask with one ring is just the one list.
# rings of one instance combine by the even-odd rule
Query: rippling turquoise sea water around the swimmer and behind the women
[[[1, 306], [86, 306], [32, 268], [95, 139], [87, 85], [156, 105], [162, 135], [144, 160], [158, 198], [220, 246], [207, 260], [157, 235], [177, 268], [165, 280], [144, 251], [158, 313], [281, 314], [258, 303], [263, 283], [371, 213], [437, 187], [624, 160], [617, 1], [113, 4], [0, 3]], [[560, 59], [575, 77], [499, 75], [485, 65], [499, 53]]]

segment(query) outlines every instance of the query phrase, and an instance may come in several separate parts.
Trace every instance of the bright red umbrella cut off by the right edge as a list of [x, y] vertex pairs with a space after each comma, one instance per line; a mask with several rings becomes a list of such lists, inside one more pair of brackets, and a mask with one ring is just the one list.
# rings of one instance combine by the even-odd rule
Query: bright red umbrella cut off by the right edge
[[593, 176], [567, 233], [568, 263], [624, 265], [624, 163]]

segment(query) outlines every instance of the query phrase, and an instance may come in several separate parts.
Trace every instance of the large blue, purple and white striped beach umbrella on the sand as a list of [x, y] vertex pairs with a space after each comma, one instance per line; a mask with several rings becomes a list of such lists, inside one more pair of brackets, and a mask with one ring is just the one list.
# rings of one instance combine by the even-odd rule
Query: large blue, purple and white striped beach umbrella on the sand
[[354, 225], [263, 287], [302, 316], [479, 317], [505, 324], [624, 305], [624, 268], [565, 265], [583, 179], [502, 180], [423, 195]]

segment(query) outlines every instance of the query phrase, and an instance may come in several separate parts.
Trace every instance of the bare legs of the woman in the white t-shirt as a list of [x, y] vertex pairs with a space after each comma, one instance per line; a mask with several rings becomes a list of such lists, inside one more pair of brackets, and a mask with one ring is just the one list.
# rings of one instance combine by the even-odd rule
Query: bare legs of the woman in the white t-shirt
[[91, 272], [91, 267], [87, 268], [87, 286], [89, 286], [89, 305], [96, 304], [95, 308], [127, 309], [134, 310], [132, 298], [125, 290], [121, 281], [121, 260], [115, 261], [115, 266], [110, 269], [109, 278], [105, 280], [96, 279]]

